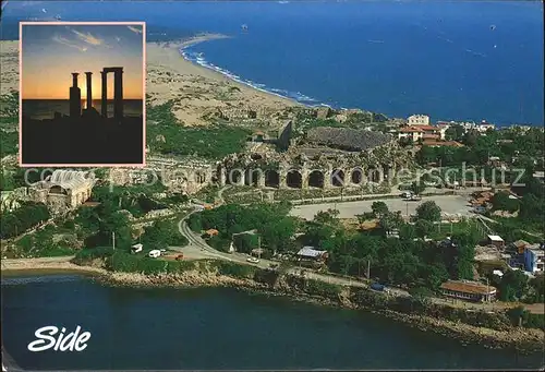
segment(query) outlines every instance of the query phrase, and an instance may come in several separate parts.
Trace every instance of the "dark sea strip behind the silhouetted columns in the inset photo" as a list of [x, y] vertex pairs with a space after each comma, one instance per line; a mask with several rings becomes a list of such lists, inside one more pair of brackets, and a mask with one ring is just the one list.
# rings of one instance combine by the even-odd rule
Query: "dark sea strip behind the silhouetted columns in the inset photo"
[[[86, 100], [82, 99], [82, 109], [86, 107]], [[101, 100], [93, 99], [93, 107], [101, 111]], [[55, 112], [70, 115], [69, 99], [23, 99], [22, 113], [28, 118], [43, 120], [52, 119]], [[109, 117], [113, 116], [113, 100], [108, 100], [107, 112]], [[123, 99], [123, 115], [141, 116], [143, 112], [142, 99]]]

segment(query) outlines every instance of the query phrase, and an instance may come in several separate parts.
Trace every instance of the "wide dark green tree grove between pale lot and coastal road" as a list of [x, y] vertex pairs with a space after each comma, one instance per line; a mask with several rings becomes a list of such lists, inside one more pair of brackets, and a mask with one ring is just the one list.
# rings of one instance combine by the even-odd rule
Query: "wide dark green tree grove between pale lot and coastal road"
[[[405, 224], [382, 202], [373, 205], [372, 216], [379, 218], [378, 228], [351, 232], [335, 212], [320, 212], [305, 225], [302, 243], [328, 251], [334, 273], [361, 276], [370, 264], [372, 277], [392, 285], [436, 290], [448, 278], [473, 277], [474, 247], [483, 237], [470, 224], [453, 233], [450, 242], [436, 243], [414, 240], [431, 233], [433, 224], [427, 220]], [[399, 230], [399, 238], [389, 237], [393, 230]]]

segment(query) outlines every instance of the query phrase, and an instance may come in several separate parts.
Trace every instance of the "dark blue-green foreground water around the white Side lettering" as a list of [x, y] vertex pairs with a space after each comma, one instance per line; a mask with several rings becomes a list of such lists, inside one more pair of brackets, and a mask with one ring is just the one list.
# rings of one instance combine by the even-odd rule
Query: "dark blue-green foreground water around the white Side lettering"
[[[23, 369], [536, 369], [522, 356], [365, 311], [228, 288], [137, 289], [76, 274], [2, 277], [2, 346]], [[44, 326], [89, 332], [83, 351], [32, 352]]]

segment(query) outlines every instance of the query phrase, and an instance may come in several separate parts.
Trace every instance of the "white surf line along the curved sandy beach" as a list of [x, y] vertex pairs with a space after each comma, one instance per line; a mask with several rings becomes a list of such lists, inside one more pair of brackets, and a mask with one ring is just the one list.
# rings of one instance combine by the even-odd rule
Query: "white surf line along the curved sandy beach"
[[219, 72], [220, 74], [222, 74], [222, 75], [225, 75], [225, 76], [227, 76], [227, 77], [229, 77], [238, 83], [247, 85], [254, 89], [265, 92], [268, 94], [272, 94], [275, 96], [282, 97], [282, 98], [294, 99], [300, 104], [304, 104], [304, 105], [312, 106], [312, 107], [314, 107], [314, 106], [328, 106], [324, 103], [318, 103], [315, 98], [310, 97], [301, 92], [291, 92], [291, 91], [287, 91], [287, 89], [267, 87], [267, 85], [265, 85], [265, 84], [256, 83], [256, 82], [253, 82], [251, 80], [244, 80], [241, 76], [232, 73], [231, 71], [229, 71], [227, 69], [222, 69], [222, 68], [215, 65], [214, 63], [207, 61], [203, 52], [193, 51], [193, 50], [191, 50], [191, 47], [181, 48], [179, 51], [180, 51], [180, 55], [185, 60], [191, 61], [193, 63], [196, 63], [203, 68]]

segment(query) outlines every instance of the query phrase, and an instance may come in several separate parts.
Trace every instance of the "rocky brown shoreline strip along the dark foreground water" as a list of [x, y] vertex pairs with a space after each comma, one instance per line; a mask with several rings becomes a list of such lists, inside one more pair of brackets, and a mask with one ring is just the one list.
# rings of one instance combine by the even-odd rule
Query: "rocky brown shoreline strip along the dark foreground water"
[[[13, 264], [15, 260], [10, 261], [12, 263], [8, 265], [4, 265], [2, 262], [2, 278], [26, 275], [74, 274], [90, 277], [92, 280], [97, 281], [99, 285], [125, 288], [234, 288], [263, 296], [286, 297], [292, 301], [315, 305], [370, 311], [422, 332], [433, 332], [444, 337], [456, 339], [462, 345], [481, 344], [491, 349], [514, 349], [518, 352], [532, 353], [542, 350], [542, 347], [538, 346], [543, 344], [543, 331], [541, 329], [512, 327], [506, 331], [497, 331], [428, 315], [401, 313], [389, 309], [377, 309], [372, 305], [358, 304], [342, 293], [338, 297], [328, 298], [323, 295], [306, 293], [286, 285], [270, 287], [265, 283], [250, 278], [237, 278], [220, 274], [214, 275], [211, 273], [205, 274], [198, 271], [189, 271], [182, 274], [144, 275], [138, 273], [109, 272], [101, 267], [80, 266], [71, 262], [52, 261], [49, 263], [41, 262], [32, 265], [28, 265], [28, 263], [17, 265]], [[21, 261], [21, 259], [17, 261]]]

